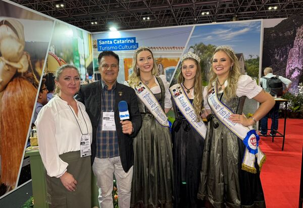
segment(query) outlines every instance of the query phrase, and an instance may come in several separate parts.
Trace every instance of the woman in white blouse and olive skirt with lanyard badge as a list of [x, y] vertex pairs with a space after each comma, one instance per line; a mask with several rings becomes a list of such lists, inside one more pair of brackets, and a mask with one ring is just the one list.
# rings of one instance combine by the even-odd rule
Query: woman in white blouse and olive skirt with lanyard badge
[[92, 128], [84, 105], [74, 99], [80, 88], [77, 68], [58, 68], [55, 83], [55, 97], [35, 122], [46, 169], [47, 203], [50, 207], [91, 207]]

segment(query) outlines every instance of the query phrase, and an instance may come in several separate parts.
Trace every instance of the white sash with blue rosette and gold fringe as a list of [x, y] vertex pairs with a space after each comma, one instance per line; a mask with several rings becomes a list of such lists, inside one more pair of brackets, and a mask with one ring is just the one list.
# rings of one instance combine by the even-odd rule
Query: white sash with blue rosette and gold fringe
[[259, 135], [256, 133], [255, 129], [251, 126], [246, 127], [242, 124], [235, 123], [229, 120], [229, 116], [233, 112], [228, 109], [224, 103], [217, 96], [217, 84], [215, 83], [214, 89], [208, 95], [207, 101], [211, 107], [215, 116], [237, 137], [243, 140], [245, 145], [245, 152], [242, 159], [242, 170], [248, 171], [250, 173], [257, 173], [255, 167], [255, 160], [257, 157], [257, 163], [262, 168], [263, 163], [266, 160], [265, 154], [261, 151], [259, 146]]

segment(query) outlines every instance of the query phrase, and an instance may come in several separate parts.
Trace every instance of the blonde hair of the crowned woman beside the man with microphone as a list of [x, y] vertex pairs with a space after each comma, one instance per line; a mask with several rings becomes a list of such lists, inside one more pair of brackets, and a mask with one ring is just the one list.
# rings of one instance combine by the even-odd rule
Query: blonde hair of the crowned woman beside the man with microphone
[[138, 50], [135, 51], [134, 57], [133, 57], [133, 72], [129, 75], [128, 78], [128, 84], [129, 86], [135, 86], [140, 82], [140, 69], [137, 68], [137, 56], [141, 51], [149, 51], [151, 54], [151, 57], [153, 57], [153, 61], [154, 61], [154, 67], [151, 70], [151, 74], [156, 76], [158, 74], [158, 67], [156, 65], [156, 60], [154, 58], [153, 53], [151, 52], [151, 50], [148, 47], [142, 47]]

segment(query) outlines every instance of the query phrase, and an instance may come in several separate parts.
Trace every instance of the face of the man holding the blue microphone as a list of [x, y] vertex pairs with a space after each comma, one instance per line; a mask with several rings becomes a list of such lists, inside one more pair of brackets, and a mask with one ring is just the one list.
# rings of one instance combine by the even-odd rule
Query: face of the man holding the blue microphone
[[113, 85], [118, 77], [119, 62], [113, 56], [104, 56], [99, 62], [99, 72], [102, 80], [108, 85]]

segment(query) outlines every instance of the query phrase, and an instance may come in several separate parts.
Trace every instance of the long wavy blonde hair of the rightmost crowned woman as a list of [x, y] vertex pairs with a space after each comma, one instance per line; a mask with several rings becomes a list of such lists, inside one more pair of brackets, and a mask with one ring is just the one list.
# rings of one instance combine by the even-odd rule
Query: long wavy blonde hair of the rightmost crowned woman
[[[231, 70], [229, 71], [228, 74], [228, 86], [224, 88], [224, 94], [223, 97], [226, 100], [230, 100], [233, 97], [236, 97], [236, 90], [237, 90], [237, 83], [239, 80], [239, 77], [241, 76], [240, 73], [240, 66], [239, 66], [239, 61], [238, 58], [236, 57], [235, 53], [229, 49], [226, 48], [219, 48], [216, 49], [214, 52], [214, 55], [218, 52], [218, 51], [224, 51], [224, 53], [230, 58], [231, 63], [233, 63]], [[208, 89], [211, 89], [213, 87], [213, 82], [217, 80], [217, 74], [213, 71], [213, 60], [214, 60], [214, 55], [211, 59], [211, 69], [210, 69], [210, 73], [209, 73], [209, 77], [210, 77], [210, 82], [208, 85]]]

